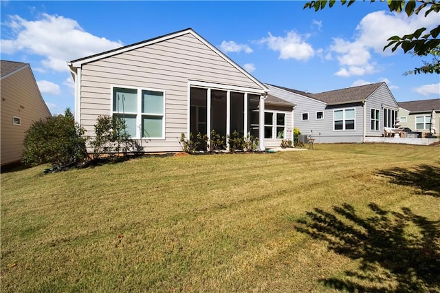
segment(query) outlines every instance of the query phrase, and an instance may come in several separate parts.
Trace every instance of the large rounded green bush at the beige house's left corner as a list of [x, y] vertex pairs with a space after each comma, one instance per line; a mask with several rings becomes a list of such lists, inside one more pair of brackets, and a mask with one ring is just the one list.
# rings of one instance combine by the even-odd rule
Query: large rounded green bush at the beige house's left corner
[[33, 122], [25, 132], [22, 162], [31, 166], [51, 163], [57, 169], [74, 166], [87, 157], [84, 133], [69, 108], [64, 115]]

